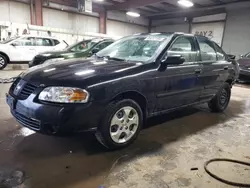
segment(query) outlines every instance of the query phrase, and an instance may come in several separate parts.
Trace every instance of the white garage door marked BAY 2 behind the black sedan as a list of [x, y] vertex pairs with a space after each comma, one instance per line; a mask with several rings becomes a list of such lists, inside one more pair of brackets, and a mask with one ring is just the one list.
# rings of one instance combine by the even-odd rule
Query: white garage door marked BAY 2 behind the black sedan
[[224, 24], [224, 22], [193, 24], [192, 33], [206, 36], [221, 46], [224, 33]]

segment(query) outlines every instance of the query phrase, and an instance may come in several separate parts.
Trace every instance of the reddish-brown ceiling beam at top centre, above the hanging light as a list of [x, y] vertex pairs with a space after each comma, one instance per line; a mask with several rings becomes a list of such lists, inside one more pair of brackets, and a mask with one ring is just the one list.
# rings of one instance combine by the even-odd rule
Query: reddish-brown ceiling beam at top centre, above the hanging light
[[160, 3], [163, 0], [127, 0], [123, 3], [116, 3], [114, 6], [111, 6], [110, 10], [126, 10], [132, 8], [138, 8], [150, 4]]

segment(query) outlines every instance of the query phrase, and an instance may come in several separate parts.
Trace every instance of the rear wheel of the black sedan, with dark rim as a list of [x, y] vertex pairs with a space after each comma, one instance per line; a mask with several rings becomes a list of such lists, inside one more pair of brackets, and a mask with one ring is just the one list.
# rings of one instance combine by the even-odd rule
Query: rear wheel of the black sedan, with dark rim
[[231, 86], [224, 83], [215, 97], [208, 103], [208, 106], [212, 112], [223, 112], [227, 108], [230, 98]]

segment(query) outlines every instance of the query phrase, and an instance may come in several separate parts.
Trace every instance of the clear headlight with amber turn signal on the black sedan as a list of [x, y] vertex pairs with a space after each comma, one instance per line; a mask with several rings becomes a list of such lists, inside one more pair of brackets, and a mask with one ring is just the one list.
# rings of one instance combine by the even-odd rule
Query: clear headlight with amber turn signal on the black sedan
[[89, 93], [72, 87], [47, 87], [39, 94], [39, 100], [56, 103], [86, 103]]

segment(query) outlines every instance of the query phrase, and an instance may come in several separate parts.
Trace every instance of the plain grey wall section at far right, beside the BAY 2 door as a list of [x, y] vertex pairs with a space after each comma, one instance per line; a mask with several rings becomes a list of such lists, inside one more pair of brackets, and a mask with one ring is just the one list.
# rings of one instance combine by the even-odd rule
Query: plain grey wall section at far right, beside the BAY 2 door
[[223, 49], [237, 56], [250, 52], [249, 9], [228, 11]]

